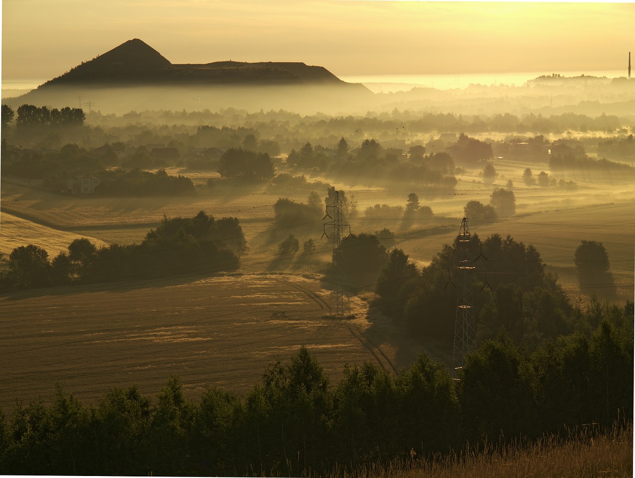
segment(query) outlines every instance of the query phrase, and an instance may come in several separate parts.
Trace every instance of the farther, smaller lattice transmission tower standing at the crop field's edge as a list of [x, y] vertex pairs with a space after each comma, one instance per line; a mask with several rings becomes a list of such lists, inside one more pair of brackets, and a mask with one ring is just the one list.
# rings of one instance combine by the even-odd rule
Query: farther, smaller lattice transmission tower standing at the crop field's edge
[[331, 292], [331, 310], [333, 310], [337, 317], [344, 317], [351, 313], [351, 304], [349, 297], [344, 292], [344, 261], [336, 260], [335, 256], [338, 254], [338, 249], [344, 239], [344, 228], [347, 227], [349, 229], [347, 236], [351, 236], [351, 226], [344, 222], [340, 191], [335, 191], [335, 199], [333, 199], [331, 204], [327, 204], [324, 219], [326, 218], [330, 218], [331, 221], [324, 223], [324, 234], [322, 234], [322, 237], [326, 236], [328, 238], [326, 226], [333, 227], [333, 267], [335, 268], [333, 279], [335, 284], [333, 292]]

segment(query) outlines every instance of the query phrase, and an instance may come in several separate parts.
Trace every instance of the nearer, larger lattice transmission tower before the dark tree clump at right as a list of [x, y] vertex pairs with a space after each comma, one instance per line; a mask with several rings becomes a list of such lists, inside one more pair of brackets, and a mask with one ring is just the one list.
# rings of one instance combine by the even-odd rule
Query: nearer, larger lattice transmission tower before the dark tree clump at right
[[467, 218], [463, 218], [458, 233], [458, 246], [460, 260], [458, 269], [457, 286], [457, 315], [454, 322], [454, 349], [452, 353], [452, 365], [455, 370], [463, 368], [465, 355], [474, 349], [476, 341], [476, 322], [474, 321], [474, 305], [472, 304], [472, 288], [469, 276], [475, 266], [467, 260], [467, 250], [472, 241]]

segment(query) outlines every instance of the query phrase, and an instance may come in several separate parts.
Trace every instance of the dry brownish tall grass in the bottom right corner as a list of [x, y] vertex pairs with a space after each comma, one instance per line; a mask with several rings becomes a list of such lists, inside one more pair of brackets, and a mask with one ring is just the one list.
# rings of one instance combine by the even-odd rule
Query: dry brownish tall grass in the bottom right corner
[[353, 472], [333, 470], [332, 477], [342, 478], [490, 478], [490, 477], [632, 477], [632, 422], [615, 423], [598, 432], [593, 427], [572, 430], [568, 436], [545, 435], [532, 442], [514, 442], [506, 446], [486, 444], [467, 451], [418, 460], [414, 452], [409, 460], [384, 465], [371, 463]]

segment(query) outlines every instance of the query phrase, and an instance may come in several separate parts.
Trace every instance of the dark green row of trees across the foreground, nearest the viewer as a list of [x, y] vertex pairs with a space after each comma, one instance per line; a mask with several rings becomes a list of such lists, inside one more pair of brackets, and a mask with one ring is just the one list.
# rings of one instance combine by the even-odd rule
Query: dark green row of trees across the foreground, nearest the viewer
[[[632, 310], [631, 310], [632, 312]], [[627, 313], [627, 312], [625, 312]], [[632, 420], [632, 335], [602, 320], [528, 352], [505, 335], [467, 355], [460, 380], [424, 354], [394, 376], [345, 366], [331, 385], [305, 347], [238, 396], [198, 401], [173, 377], [152, 401], [112, 388], [85, 406], [58, 386], [0, 411], [0, 470], [53, 475], [291, 475], [462, 453], [466, 446]], [[469, 445], [468, 445], [469, 444]], [[473, 449], [473, 448], [472, 448]], [[472, 449], [470, 450], [472, 452]]]

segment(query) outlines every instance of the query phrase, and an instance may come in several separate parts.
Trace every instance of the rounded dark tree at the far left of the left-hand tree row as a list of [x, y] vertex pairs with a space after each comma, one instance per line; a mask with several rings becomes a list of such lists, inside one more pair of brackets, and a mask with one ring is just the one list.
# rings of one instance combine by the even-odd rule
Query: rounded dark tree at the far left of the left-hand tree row
[[50, 280], [48, 253], [34, 244], [13, 249], [8, 266], [13, 286], [38, 287], [48, 284]]

